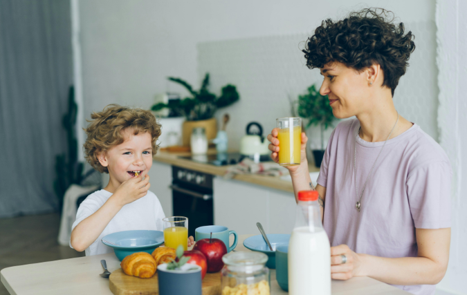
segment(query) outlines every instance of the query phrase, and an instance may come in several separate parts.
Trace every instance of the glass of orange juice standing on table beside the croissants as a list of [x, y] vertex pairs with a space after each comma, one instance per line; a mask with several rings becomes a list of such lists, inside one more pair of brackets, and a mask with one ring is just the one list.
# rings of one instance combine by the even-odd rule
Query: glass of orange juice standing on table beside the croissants
[[188, 244], [188, 218], [172, 216], [163, 218], [164, 242], [166, 247], [176, 249], [179, 245], [187, 251]]

